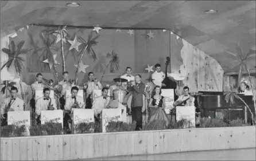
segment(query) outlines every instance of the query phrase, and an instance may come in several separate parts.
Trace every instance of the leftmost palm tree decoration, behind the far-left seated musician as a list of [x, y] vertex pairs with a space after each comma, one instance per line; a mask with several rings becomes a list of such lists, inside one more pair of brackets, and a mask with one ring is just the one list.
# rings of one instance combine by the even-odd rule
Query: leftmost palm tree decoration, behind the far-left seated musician
[[22, 89], [22, 80], [21, 80], [21, 72], [24, 68], [23, 62], [25, 61], [24, 58], [21, 57], [21, 54], [28, 53], [28, 49], [22, 49], [25, 41], [21, 41], [18, 43], [17, 47], [14, 44], [14, 41], [11, 41], [9, 44], [9, 49], [3, 48], [2, 51], [8, 54], [9, 60], [3, 64], [1, 70], [6, 66], [7, 69], [10, 68], [12, 64], [14, 64], [15, 70], [20, 77], [20, 87], [21, 87], [21, 96], [24, 99], [24, 92]]

